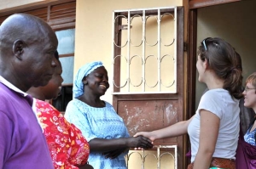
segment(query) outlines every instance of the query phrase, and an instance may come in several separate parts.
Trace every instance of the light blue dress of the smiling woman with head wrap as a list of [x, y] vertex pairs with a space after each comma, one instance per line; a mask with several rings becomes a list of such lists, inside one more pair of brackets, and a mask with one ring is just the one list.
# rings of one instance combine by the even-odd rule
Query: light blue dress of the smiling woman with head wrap
[[[78, 127], [84, 138], [90, 142], [93, 138], [128, 138], [130, 137], [123, 119], [117, 115], [113, 106], [105, 101], [105, 107], [96, 108], [73, 99], [67, 104], [65, 118]], [[95, 169], [126, 169], [123, 153], [115, 159], [106, 159], [101, 153], [90, 152], [89, 163]]]

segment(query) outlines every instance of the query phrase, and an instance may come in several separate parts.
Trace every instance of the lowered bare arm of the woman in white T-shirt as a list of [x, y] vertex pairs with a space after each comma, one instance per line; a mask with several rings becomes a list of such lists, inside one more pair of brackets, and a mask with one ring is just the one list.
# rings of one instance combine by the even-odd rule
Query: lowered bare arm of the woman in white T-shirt
[[194, 168], [208, 169], [218, 138], [220, 119], [207, 110], [201, 110], [199, 149], [195, 156]]

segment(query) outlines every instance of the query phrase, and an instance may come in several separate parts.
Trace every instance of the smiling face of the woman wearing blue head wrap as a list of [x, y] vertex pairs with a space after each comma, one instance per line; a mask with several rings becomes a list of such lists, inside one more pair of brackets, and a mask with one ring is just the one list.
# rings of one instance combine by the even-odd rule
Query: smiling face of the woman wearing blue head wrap
[[[108, 71], [105, 67], [98, 67], [93, 70], [84, 80], [84, 84], [90, 88], [90, 91], [96, 95], [102, 96], [106, 93], [109, 87]], [[86, 89], [84, 92], [86, 93]]]

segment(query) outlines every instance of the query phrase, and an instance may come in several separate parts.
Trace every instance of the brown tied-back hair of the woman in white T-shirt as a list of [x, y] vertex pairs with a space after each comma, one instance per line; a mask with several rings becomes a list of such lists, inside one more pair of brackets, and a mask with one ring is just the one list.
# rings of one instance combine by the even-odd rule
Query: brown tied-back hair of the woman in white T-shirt
[[241, 57], [230, 43], [218, 37], [208, 37], [199, 47], [201, 60], [207, 63], [215, 74], [224, 79], [224, 89], [236, 99], [242, 98]]

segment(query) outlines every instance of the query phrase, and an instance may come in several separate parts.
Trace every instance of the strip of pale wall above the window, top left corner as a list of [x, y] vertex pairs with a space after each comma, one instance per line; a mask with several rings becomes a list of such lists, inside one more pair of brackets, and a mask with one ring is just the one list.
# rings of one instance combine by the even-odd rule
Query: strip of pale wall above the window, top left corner
[[38, 4], [54, 2], [57, 0], [0, 0], [0, 11], [5, 12], [18, 8], [27, 8]]

